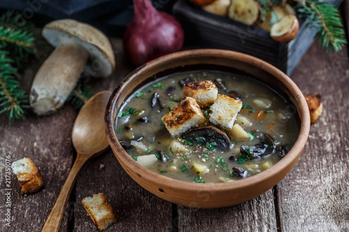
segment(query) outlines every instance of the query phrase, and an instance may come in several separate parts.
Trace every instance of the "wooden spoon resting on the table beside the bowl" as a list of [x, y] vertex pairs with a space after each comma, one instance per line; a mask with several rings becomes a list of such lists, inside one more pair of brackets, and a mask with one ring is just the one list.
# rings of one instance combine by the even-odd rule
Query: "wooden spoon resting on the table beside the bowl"
[[42, 231], [59, 231], [66, 203], [77, 174], [87, 160], [103, 153], [109, 147], [105, 134], [104, 114], [111, 94], [110, 91], [96, 93], [85, 102], [77, 114], [72, 132], [73, 146], [77, 152], [77, 157]]

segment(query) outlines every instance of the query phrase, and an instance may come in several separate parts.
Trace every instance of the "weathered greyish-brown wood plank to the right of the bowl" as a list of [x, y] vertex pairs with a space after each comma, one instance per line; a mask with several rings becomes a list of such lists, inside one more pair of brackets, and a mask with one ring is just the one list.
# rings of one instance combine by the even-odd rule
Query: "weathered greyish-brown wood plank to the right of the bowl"
[[319, 46], [315, 42], [292, 75], [304, 93], [322, 95], [324, 112], [279, 183], [283, 231], [349, 231], [348, 51], [326, 54]]

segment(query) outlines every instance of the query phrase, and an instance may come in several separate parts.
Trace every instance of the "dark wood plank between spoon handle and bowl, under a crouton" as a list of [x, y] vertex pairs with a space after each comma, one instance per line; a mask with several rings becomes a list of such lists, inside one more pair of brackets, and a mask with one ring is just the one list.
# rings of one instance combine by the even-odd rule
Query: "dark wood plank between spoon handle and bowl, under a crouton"
[[124, 169], [111, 150], [91, 160], [76, 183], [75, 223], [73, 231], [98, 231], [87, 215], [81, 200], [103, 192], [115, 210], [117, 224], [110, 231], [171, 231], [171, 203], [140, 187]]

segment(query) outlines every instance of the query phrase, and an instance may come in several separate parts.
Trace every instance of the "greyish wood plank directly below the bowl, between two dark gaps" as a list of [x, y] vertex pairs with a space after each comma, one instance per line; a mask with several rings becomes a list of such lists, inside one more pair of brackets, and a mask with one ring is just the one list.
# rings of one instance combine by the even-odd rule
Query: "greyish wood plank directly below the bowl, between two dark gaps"
[[178, 206], [178, 231], [277, 231], [273, 190], [228, 208]]

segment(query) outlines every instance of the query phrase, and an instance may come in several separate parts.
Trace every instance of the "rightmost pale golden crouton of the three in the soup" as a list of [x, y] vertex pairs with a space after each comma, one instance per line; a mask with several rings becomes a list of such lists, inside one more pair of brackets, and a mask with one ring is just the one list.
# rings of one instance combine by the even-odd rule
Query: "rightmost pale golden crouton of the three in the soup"
[[221, 125], [225, 129], [232, 129], [237, 114], [242, 108], [242, 102], [230, 98], [227, 95], [217, 95], [214, 105], [211, 105], [209, 121], [216, 125]]

